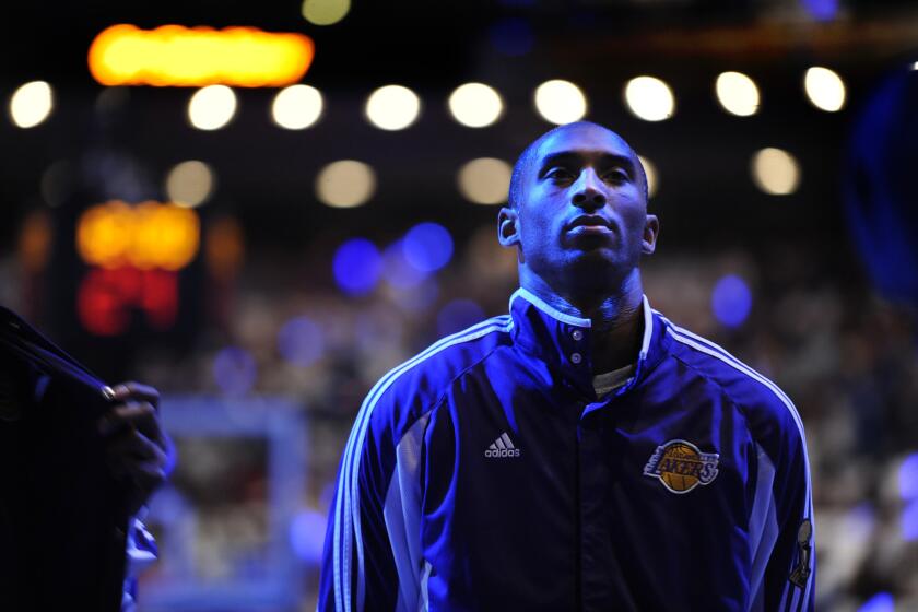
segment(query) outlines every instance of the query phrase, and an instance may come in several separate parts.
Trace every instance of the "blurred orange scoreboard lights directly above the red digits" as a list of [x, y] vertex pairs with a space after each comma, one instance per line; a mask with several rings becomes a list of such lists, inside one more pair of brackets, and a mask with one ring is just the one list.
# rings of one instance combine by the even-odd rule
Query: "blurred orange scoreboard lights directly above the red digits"
[[198, 254], [198, 214], [175, 204], [113, 200], [87, 209], [76, 223], [76, 250], [102, 268], [177, 271]]

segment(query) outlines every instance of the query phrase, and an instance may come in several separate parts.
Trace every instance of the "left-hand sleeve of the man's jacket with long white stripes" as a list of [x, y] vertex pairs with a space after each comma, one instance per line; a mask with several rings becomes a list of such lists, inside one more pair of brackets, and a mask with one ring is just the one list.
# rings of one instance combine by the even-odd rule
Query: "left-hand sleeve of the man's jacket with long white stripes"
[[399, 484], [397, 438], [391, 407], [382, 405], [385, 399], [372, 400], [373, 391], [338, 470], [319, 578], [317, 609], [322, 612], [399, 610], [405, 604], [397, 567], [404, 534], [400, 495], [393, 495]]

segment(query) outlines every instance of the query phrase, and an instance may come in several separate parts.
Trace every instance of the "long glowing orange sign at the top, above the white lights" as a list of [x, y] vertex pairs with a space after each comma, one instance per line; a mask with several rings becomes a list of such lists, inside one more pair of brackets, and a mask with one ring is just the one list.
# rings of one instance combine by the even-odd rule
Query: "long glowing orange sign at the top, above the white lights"
[[314, 55], [303, 34], [120, 24], [96, 36], [89, 61], [103, 85], [272, 87], [299, 81]]

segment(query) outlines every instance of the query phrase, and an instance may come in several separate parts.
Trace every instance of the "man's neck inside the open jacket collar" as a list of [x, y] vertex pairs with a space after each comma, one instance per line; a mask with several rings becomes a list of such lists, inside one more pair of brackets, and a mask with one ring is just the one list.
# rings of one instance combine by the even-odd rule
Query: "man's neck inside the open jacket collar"
[[520, 274], [520, 286], [566, 315], [590, 319], [595, 374], [637, 361], [644, 332], [644, 289], [637, 269], [623, 282], [601, 290], [561, 287], [556, 291], [532, 273]]

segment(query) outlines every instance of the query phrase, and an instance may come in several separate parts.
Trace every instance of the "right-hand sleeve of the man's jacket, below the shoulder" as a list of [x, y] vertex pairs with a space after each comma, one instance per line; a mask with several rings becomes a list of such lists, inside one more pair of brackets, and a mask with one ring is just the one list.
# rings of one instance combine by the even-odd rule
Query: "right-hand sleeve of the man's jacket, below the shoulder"
[[753, 573], [762, 577], [762, 582], [760, 592], [753, 591], [750, 609], [812, 612], [815, 525], [807, 443], [797, 411], [785, 414], [787, 419], [777, 425], [777, 434], [757, 447], [757, 489], [769, 494], [767, 503], [756, 505], [765, 510], [752, 521], [760, 523], [762, 533], [753, 565], [764, 567]]

